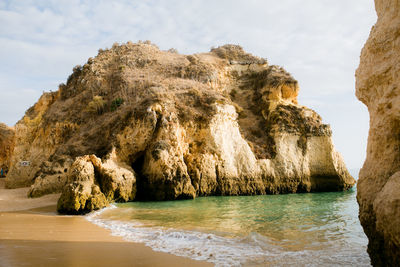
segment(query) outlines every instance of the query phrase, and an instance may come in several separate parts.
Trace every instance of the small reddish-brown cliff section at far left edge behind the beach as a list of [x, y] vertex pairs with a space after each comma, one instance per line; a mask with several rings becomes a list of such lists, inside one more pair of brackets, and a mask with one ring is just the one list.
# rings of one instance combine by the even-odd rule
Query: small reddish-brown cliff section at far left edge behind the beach
[[0, 123], [0, 168], [3, 175], [10, 166], [10, 158], [14, 149], [14, 129]]

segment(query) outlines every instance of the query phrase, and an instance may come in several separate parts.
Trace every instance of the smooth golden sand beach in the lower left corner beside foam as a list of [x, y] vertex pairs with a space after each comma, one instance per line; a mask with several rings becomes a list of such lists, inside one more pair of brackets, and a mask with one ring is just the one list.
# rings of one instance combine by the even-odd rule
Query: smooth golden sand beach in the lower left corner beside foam
[[110, 235], [82, 216], [56, 213], [58, 194], [26, 197], [0, 179], [0, 266], [211, 266]]

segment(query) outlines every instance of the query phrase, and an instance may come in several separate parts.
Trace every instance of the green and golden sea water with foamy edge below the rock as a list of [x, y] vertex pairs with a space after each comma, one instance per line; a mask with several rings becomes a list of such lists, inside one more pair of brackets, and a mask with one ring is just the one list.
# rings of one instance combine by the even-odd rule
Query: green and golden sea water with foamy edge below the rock
[[87, 218], [126, 240], [216, 266], [370, 266], [355, 189], [131, 202]]

